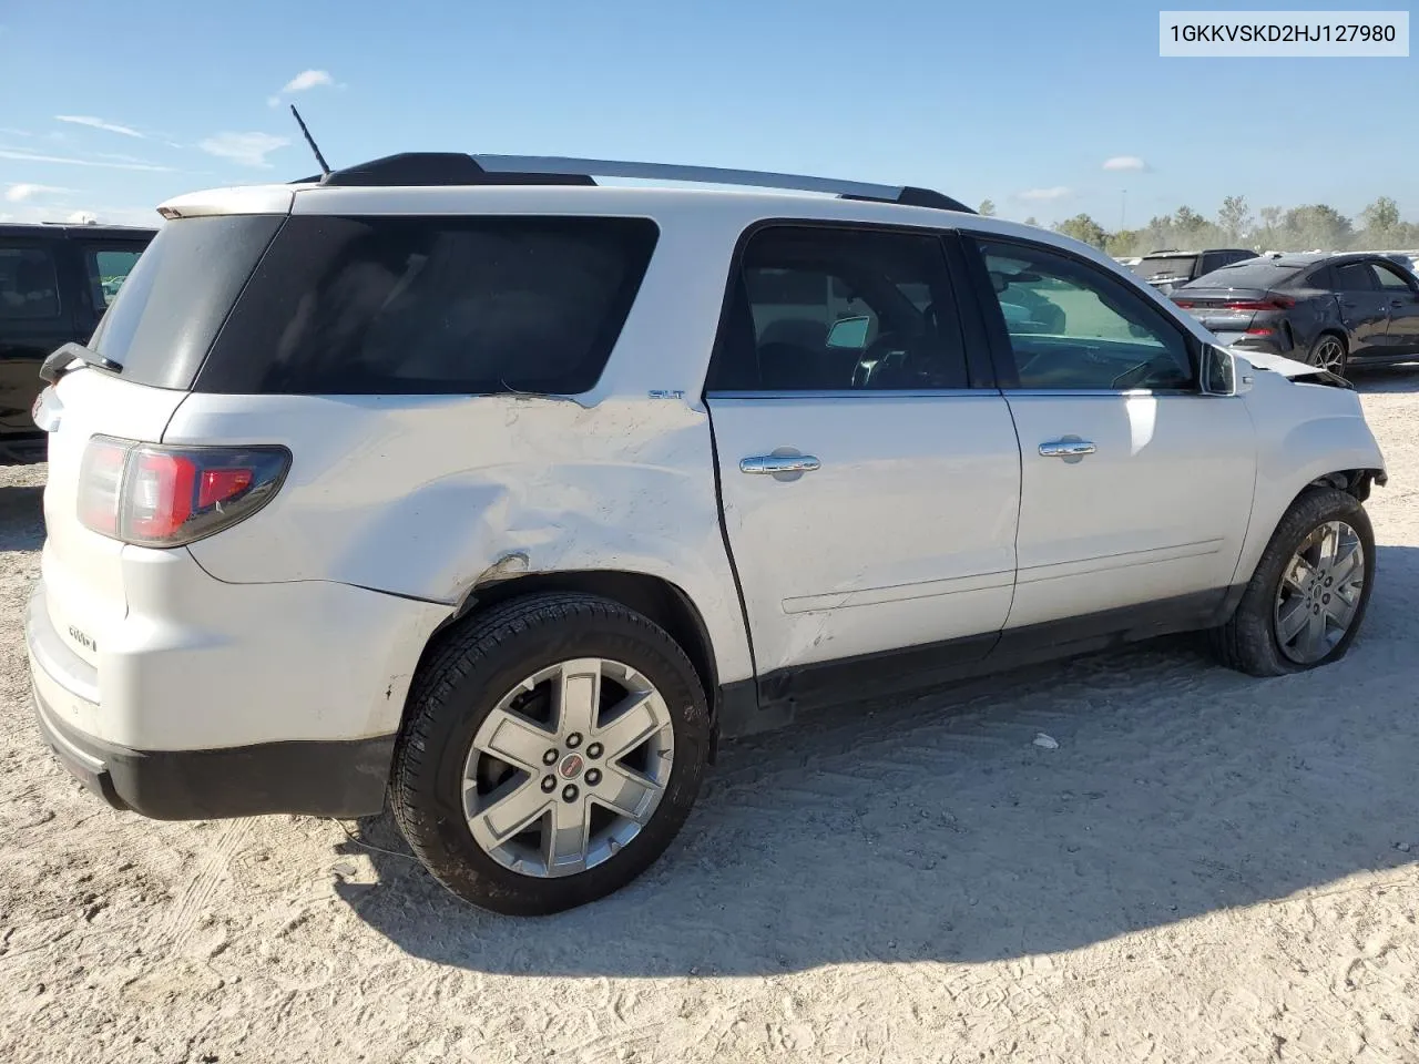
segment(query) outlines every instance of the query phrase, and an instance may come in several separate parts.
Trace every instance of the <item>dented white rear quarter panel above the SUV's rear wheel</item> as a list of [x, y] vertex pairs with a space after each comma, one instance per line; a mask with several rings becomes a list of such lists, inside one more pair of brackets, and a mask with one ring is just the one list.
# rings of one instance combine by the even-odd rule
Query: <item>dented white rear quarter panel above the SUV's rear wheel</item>
[[219, 580], [457, 606], [511, 553], [532, 573], [644, 573], [698, 607], [722, 682], [752, 674], [708, 416], [683, 399], [197, 394], [165, 434], [243, 440], [294, 460], [270, 505], [190, 546]]

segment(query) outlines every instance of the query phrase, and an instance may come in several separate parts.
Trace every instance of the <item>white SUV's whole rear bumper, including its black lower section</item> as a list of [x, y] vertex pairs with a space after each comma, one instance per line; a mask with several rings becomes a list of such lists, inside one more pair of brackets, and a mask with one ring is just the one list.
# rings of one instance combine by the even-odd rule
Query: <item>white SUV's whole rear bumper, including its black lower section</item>
[[[211, 584], [203, 592], [216, 596], [226, 587]], [[258, 589], [234, 589], [248, 590]], [[426, 623], [421, 607], [372, 592], [348, 596], [322, 582], [272, 590], [275, 600], [255, 610], [265, 628], [245, 626], [241, 641], [223, 644], [211, 630], [190, 628], [183, 631], [186, 643], [172, 633], [153, 637], [146, 634], [153, 626], [131, 613], [138, 631], [112, 631], [106, 643], [115, 650], [94, 665], [55, 628], [41, 582], [26, 616], [26, 644], [35, 716], [60, 762], [115, 809], [159, 820], [379, 813], [413, 671], [410, 661], [396, 689], [382, 658], [397, 634], [419, 633]], [[375, 634], [333, 617], [324, 633], [287, 628], [281, 620], [297, 611], [289, 596], [299, 590], [339, 596], [338, 606], [363, 617], [380, 606], [414, 613], [382, 617]], [[356, 610], [360, 604], [365, 609]], [[230, 600], [210, 606], [243, 620]], [[328, 603], [321, 613], [338, 616]], [[394, 623], [404, 633], [386, 627]], [[272, 660], [272, 640], [298, 648], [299, 675]], [[414, 660], [420, 647], [412, 648]], [[366, 675], [362, 663], [382, 671]], [[199, 736], [207, 741], [194, 741]]]

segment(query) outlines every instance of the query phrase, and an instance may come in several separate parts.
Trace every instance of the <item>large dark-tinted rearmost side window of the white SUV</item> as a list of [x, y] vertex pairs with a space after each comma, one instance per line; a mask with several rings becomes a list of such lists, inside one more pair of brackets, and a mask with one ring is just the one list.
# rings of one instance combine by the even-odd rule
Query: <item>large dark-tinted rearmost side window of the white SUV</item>
[[295, 216], [241, 294], [197, 389], [586, 392], [656, 235], [646, 218]]

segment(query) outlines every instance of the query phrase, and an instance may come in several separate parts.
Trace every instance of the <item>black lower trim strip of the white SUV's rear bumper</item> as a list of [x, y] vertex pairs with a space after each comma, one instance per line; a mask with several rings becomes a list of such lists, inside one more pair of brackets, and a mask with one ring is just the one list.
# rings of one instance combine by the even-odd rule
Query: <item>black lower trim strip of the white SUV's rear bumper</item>
[[228, 750], [129, 750], [65, 728], [34, 685], [40, 733], [60, 763], [114, 809], [156, 820], [298, 813], [373, 816], [394, 736], [272, 742]]

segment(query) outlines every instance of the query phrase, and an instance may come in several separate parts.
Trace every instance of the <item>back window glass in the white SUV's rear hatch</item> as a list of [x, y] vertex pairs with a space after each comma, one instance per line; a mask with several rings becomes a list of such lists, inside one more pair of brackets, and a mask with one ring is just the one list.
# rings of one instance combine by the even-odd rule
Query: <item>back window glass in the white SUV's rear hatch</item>
[[192, 387], [241, 285], [285, 218], [243, 214], [169, 221], [139, 257], [89, 348], [123, 379]]

